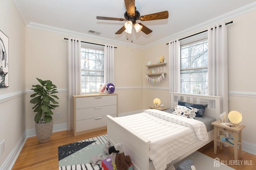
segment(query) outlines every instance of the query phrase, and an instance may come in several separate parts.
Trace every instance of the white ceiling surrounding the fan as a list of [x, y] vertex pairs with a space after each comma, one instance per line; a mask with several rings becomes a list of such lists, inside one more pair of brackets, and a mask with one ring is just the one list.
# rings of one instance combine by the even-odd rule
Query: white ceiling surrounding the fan
[[[120, 35], [115, 33], [125, 21], [97, 20], [96, 16], [124, 18], [123, 0], [13, 0], [26, 26], [37, 26], [65, 30], [67, 34], [78, 34], [96, 40], [109, 40], [144, 47], [178, 35], [190, 28], [213, 24], [236, 15], [244, 9], [256, 6], [255, 0], [136, 0], [140, 15], [167, 10], [169, 18], [140, 21], [150, 28], [151, 34], [143, 32]], [[209, 21], [210, 20], [210, 21]], [[95, 35], [89, 30], [101, 32]], [[131, 42], [133, 39], [133, 43]], [[169, 39], [168, 39], [169, 40]]]

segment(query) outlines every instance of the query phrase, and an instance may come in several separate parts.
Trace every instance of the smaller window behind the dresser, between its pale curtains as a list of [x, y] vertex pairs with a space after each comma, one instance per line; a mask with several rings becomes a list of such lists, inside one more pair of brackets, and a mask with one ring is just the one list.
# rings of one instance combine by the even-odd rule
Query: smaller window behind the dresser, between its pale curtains
[[98, 92], [104, 83], [104, 49], [81, 47], [82, 93]]

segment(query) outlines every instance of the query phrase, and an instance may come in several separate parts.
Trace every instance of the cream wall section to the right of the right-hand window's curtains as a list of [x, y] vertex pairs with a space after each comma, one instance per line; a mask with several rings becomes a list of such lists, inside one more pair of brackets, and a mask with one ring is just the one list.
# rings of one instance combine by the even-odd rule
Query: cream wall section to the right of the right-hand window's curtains
[[242, 111], [243, 140], [255, 144], [256, 136], [256, 10], [232, 18], [228, 26], [228, 90], [229, 111]]

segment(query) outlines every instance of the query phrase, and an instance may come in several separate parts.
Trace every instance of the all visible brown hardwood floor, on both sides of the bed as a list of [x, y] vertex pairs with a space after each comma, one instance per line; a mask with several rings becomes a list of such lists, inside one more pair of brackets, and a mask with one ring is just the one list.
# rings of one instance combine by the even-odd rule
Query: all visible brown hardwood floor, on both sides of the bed
[[[60, 131], [52, 133], [50, 140], [46, 143], [39, 143], [35, 137], [30, 137], [26, 140], [12, 170], [58, 170], [58, 146], [77, 142], [87, 138], [92, 138], [102, 134], [106, 134], [107, 130], [100, 130], [88, 134], [74, 136], [72, 131]], [[245, 165], [244, 162], [240, 165], [230, 165], [234, 160], [234, 149], [232, 147], [222, 147], [222, 150], [217, 148], [217, 154], [213, 153], [213, 142], [200, 148], [198, 151], [210, 156], [211, 158], [219, 158], [220, 161], [225, 161], [228, 166], [236, 170], [255, 170], [256, 156], [243, 152], [244, 162], [251, 165]], [[224, 163], [225, 163], [224, 162]], [[213, 163], [212, 163], [213, 165]]]

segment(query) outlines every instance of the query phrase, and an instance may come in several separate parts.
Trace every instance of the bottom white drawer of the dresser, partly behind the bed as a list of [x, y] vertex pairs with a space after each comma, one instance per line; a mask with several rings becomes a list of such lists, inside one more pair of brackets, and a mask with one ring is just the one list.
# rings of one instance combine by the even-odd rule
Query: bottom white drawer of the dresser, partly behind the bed
[[[112, 117], [116, 117], [115, 115], [111, 115]], [[107, 126], [107, 117], [98, 117], [98, 118], [92, 118], [92, 119], [84, 119], [80, 121], [76, 121], [76, 132], [81, 132], [84, 130], [89, 130], [93, 128], [98, 127], [104, 127]]]

